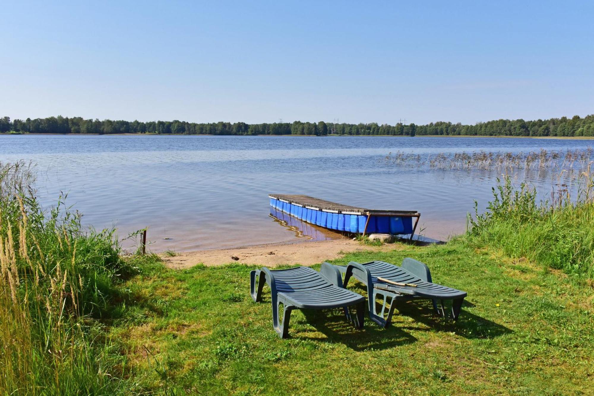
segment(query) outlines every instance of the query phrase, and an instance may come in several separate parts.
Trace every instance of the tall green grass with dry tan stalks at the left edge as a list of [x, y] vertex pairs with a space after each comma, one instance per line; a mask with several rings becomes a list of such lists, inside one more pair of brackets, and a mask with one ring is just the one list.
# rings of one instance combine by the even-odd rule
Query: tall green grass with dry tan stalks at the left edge
[[0, 393], [105, 394], [99, 318], [129, 272], [113, 231], [84, 231], [62, 200], [45, 213], [29, 164], [0, 164]]

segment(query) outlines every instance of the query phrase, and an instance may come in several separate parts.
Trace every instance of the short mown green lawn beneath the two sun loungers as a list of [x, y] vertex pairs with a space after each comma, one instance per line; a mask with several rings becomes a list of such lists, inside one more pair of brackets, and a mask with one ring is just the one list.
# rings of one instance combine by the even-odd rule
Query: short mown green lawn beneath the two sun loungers
[[428, 301], [403, 303], [390, 328], [366, 320], [361, 331], [340, 310], [295, 310], [281, 340], [269, 289], [262, 303], [249, 296], [255, 267], [154, 264], [124, 284], [127, 297], [108, 321], [122, 354], [112, 375], [127, 378], [132, 394], [592, 391], [594, 290], [586, 281], [462, 242], [395, 247], [334, 263], [419, 259], [435, 282], [468, 292], [456, 323], [434, 316]]

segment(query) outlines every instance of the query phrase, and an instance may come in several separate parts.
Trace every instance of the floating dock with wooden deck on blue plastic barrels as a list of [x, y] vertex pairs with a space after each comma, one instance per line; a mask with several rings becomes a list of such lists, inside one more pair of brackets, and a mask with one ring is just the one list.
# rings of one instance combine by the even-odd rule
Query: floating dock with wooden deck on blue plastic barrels
[[365, 209], [307, 195], [269, 194], [268, 198], [274, 209], [302, 221], [353, 234], [410, 234], [412, 239], [421, 217], [416, 210]]

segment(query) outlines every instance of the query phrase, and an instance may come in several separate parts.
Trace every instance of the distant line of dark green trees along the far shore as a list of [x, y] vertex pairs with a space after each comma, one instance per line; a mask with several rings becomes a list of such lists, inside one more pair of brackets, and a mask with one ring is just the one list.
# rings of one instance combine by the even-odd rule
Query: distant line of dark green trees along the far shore
[[273, 122], [246, 124], [245, 122], [185, 122], [85, 120], [82, 117], [48, 117], [11, 120], [0, 118], [0, 133], [158, 133], [189, 135], [441, 135], [441, 136], [594, 136], [594, 114], [584, 118], [561, 117], [550, 120], [496, 120], [463, 125], [451, 122], [431, 122], [427, 125], [334, 124], [332, 122]]

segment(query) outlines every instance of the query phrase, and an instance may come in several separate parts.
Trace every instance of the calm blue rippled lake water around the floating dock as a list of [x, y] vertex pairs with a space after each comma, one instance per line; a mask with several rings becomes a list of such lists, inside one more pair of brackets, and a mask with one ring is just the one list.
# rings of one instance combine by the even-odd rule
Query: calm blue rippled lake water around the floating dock
[[[333, 232], [270, 216], [268, 193], [307, 194], [371, 209], [418, 210], [422, 234], [443, 240], [465, 230], [473, 201], [484, 208], [501, 170], [399, 166], [392, 152], [585, 149], [592, 140], [439, 137], [0, 136], [0, 162], [37, 165], [45, 206], [60, 191], [84, 224], [149, 227], [155, 251], [195, 250], [332, 238]], [[545, 193], [555, 171], [517, 170]], [[305, 234], [305, 235], [304, 235]]]

